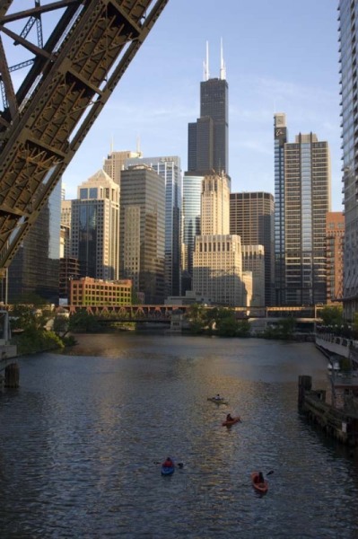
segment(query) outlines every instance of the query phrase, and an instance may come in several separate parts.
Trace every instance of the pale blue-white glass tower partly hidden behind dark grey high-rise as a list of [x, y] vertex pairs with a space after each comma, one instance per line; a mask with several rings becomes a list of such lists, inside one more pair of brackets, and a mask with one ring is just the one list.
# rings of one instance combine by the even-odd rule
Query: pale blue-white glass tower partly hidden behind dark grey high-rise
[[127, 159], [125, 166], [145, 164], [165, 181], [165, 278], [164, 296], [180, 295], [180, 216], [182, 174], [178, 156]]

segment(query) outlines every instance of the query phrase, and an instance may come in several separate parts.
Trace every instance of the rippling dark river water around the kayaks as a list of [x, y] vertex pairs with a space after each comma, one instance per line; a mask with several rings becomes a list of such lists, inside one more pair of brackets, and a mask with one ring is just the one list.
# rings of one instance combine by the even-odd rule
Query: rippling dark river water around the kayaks
[[[298, 376], [327, 385], [313, 344], [128, 332], [19, 364], [0, 392], [1, 539], [358, 537], [358, 460], [297, 411]], [[162, 477], [168, 455], [184, 467]], [[266, 496], [254, 470], [274, 471]]]

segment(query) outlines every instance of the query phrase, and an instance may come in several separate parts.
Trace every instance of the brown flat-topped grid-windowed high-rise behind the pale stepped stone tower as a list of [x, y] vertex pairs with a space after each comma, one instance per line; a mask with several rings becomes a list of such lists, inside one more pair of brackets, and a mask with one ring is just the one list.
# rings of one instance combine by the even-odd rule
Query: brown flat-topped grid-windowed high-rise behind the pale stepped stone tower
[[[274, 305], [275, 298], [275, 202], [266, 192], [231, 193], [230, 195], [230, 234], [239, 234], [241, 247], [244, 245], [263, 245], [265, 256], [265, 294], [260, 306]], [[249, 270], [249, 268], [245, 268]], [[254, 286], [255, 288], [255, 286]], [[261, 291], [255, 292], [258, 301]], [[256, 302], [255, 305], [258, 305]]]

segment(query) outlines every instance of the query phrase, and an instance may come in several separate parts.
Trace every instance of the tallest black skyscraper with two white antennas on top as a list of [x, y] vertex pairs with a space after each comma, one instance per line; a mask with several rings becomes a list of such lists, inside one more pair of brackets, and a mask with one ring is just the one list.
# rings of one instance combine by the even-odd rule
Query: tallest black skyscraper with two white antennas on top
[[200, 118], [188, 124], [188, 172], [229, 172], [229, 115], [226, 70], [221, 47], [220, 78], [209, 76], [206, 44], [204, 81], [200, 83]]

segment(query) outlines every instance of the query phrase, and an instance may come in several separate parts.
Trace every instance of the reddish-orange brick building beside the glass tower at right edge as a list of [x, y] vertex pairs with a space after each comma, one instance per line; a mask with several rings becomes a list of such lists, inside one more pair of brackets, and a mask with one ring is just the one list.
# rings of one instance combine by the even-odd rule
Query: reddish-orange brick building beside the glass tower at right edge
[[341, 211], [327, 212], [327, 303], [342, 301], [343, 255], [345, 250], [345, 216]]

